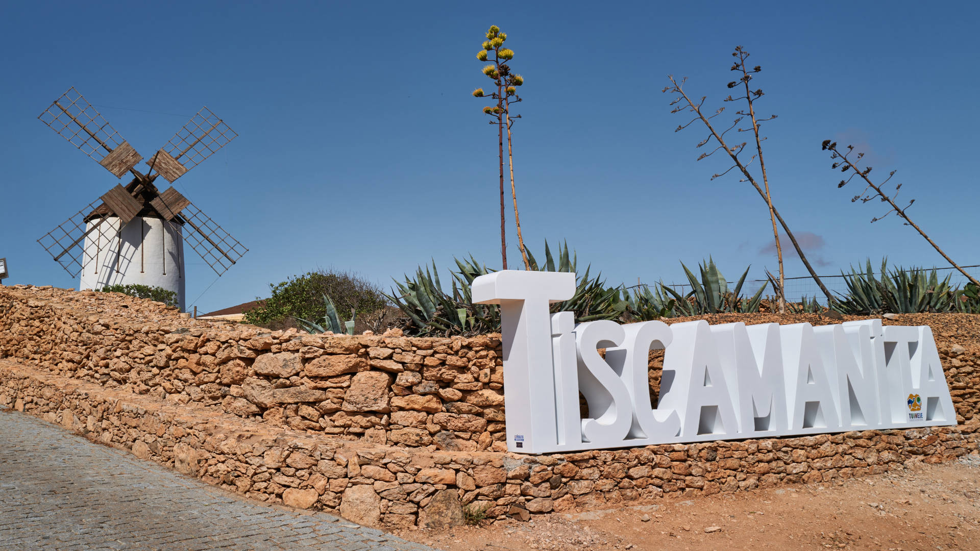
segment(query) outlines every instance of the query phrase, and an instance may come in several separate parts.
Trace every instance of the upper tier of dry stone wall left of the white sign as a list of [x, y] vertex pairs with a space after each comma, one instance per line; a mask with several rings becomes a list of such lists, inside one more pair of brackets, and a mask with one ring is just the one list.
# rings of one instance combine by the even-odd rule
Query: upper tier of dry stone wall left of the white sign
[[497, 335], [228, 327], [119, 293], [0, 287], [0, 357], [272, 426], [441, 450], [506, 450]]

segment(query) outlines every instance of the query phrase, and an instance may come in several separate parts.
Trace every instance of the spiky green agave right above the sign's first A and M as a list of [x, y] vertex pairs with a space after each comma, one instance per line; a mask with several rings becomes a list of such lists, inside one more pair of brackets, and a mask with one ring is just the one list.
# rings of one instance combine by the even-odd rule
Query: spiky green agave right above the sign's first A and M
[[[684, 263], [681, 263], [688, 281], [691, 282], [691, 292], [681, 296], [674, 289], [661, 283], [664, 291], [669, 293], [676, 300], [675, 308], [680, 316], [700, 316], [704, 314], [722, 314], [731, 312], [759, 312], [759, 304], [762, 300], [762, 291], [765, 290], [763, 284], [752, 298], [742, 298], [742, 284], [745, 282], [746, 275], [749, 275], [749, 268], [745, 269], [739, 277], [735, 288], [728, 290], [728, 282], [724, 275], [714, 265], [714, 261], [709, 257], [708, 262], [699, 264], [701, 279], [688, 270]], [[751, 267], [750, 267], [751, 268]]]

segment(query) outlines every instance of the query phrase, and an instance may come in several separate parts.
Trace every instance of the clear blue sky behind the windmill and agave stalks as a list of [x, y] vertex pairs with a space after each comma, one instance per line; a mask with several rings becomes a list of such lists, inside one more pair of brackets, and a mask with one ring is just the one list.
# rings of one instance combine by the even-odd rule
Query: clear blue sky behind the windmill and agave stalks
[[[680, 280], [713, 255], [729, 278], [775, 270], [764, 204], [697, 125], [670, 115], [666, 75], [722, 105], [730, 52], [763, 68], [773, 200], [823, 273], [887, 255], [943, 259], [880, 205], [851, 203], [820, 151], [869, 146], [914, 215], [962, 264], [976, 230], [974, 3], [45, 3], [0, 7], [0, 257], [13, 276], [73, 287], [35, 242], [116, 183], [35, 118], [75, 86], [144, 156], [202, 105], [240, 137], [176, 187], [250, 252], [196, 305], [266, 296], [319, 267], [388, 286], [434, 258], [499, 264], [496, 132], [469, 92], [501, 25], [525, 76], [515, 175], [525, 239], [567, 239], [611, 283]], [[727, 117], [727, 116], [725, 116]], [[855, 185], [855, 184], [852, 184]], [[513, 212], [508, 222], [513, 224]], [[515, 231], [510, 260], [517, 266]], [[788, 246], [788, 244], [787, 244]], [[198, 259], [186, 251], [188, 262]], [[787, 275], [804, 275], [788, 254]], [[188, 269], [191, 303], [215, 279]], [[446, 280], [444, 278], [444, 280]]]

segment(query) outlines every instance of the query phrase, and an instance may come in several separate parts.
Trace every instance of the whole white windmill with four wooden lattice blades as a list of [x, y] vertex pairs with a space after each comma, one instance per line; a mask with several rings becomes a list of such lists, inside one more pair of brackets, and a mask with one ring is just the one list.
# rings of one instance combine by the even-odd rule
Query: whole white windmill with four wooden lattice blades
[[219, 276], [248, 252], [172, 186], [154, 185], [158, 176], [172, 183], [238, 135], [207, 107], [153, 154], [145, 175], [135, 168], [143, 157], [73, 87], [38, 119], [116, 177], [133, 175], [37, 240], [80, 275], [78, 288], [160, 286], [177, 293], [183, 310], [184, 241]]

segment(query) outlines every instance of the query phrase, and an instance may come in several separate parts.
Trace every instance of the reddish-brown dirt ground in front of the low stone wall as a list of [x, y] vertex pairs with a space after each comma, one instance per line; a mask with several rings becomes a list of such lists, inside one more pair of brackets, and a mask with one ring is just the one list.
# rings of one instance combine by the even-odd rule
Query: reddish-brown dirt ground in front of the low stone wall
[[399, 535], [447, 551], [980, 549], [980, 456], [834, 483]]

